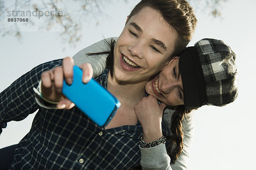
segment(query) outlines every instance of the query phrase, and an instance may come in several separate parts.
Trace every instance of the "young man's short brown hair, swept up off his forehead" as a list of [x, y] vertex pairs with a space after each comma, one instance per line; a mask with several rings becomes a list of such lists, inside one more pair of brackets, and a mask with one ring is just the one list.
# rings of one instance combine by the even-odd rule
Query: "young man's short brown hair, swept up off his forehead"
[[186, 0], [141, 0], [131, 11], [129, 18], [145, 7], [158, 11], [163, 19], [177, 31], [174, 52], [170, 57], [179, 56], [186, 49], [189, 41], [192, 40], [195, 31], [197, 19], [193, 8]]

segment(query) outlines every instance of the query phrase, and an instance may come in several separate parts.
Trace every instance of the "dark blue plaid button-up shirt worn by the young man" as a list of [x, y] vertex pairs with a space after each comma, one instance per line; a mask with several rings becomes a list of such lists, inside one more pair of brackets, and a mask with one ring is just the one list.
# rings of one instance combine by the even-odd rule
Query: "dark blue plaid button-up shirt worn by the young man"
[[[47, 109], [35, 101], [41, 73], [62, 59], [38, 65], [0, 93], [0, 133], [7, 122], [38, 110], [29, 133], [15, 150], [13, 170], [129, 170], [140, 165], [140, 122], [105, 130], [78, 108]], [[96, 79], [107, 87], [108, 69]], [[163, 135], [169, 135], [162, 122]], [[168, 142], [166, 143], [167, 146]]]

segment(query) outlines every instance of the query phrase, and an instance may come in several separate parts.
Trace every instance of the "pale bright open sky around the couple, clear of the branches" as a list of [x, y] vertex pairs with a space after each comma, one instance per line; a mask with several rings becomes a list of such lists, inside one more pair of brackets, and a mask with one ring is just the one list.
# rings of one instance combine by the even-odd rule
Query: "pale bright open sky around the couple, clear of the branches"
[[[76, 48], [64, 45], [55, 31], [22, 32], [22, 40], [0, 38], [0, 91], [36, 65], [52, 59], [72, 57], [82, 48], [103, 37], [118, 37], [125, 20], [138, 0], [124, 3], [111, 0], [96, 26], [94, 19], [83, 23]], [[190, 46], [202, 38], [224, 40], [236, 53], [239, 96], [225, 107], [205, 106], [194, 113], [195, 134], [188, 170], [253, 170], [256, 156], [255, 0], [229, 0], [221, 7], [222, 16], [196, 11], [198, 26]], [[66, 7], [65, 7], [66, 8]], [[3, 23], [0, 23], [3, 27]], [[66, 47], [65, 51], [62, 51]], [[17, 144], [28, 133], [35, 114], [20, 122], [9, 122], [0, 136], [0, 148]]]

